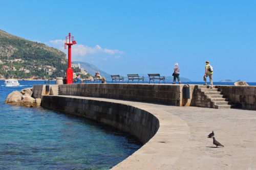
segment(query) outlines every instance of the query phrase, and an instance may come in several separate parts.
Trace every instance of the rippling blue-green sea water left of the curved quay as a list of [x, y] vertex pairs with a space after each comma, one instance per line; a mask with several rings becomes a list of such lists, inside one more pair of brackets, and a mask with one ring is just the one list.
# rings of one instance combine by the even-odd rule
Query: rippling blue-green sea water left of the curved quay
[[42, 84], [0, 81], [0, 169], [110, 169], [141, 144], [110, 126], [41, 107], [5, 105], [14, 90]]

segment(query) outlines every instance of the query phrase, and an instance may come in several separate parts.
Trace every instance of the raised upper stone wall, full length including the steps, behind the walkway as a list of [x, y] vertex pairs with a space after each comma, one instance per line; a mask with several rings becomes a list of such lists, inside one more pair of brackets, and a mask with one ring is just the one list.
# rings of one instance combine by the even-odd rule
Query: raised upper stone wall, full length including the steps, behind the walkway
[[74, 95], [208, 108], [221, 108], [218, 105], [224, 103], [227, 107], [226, 104], [230, 104], [235, 108], [256, 110], [256, 86], [216, 85], [209, 89], [209, 86], [189, 85], [190, 99], [184, 99], [183, 94], [184, 85], [178, 84], [63, 84], [50, 85], [50, 91], [46, 91], [46, 85], [33, 86], [34, 98]]

